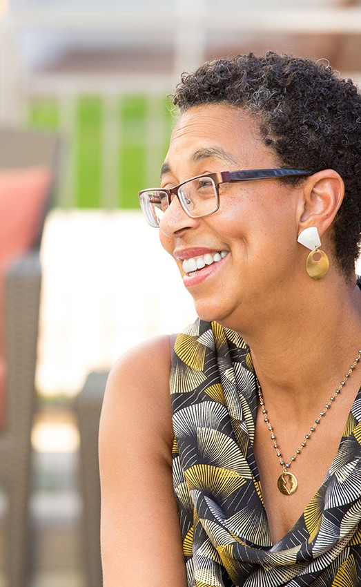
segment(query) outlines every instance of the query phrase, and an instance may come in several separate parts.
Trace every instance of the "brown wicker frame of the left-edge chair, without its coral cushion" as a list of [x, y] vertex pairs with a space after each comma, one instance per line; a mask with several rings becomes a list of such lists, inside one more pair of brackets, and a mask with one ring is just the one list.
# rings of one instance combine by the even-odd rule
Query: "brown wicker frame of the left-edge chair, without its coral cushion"
[[[59, 141], [52, 134], [0, 127], [0, 174], [11, 170], [12, 176], [16, 177], [19, 170], [40, 167], [50, 171], [32, 242], [28, 250], [9, 261], [2, 275], [1, 338], [6, 372], [0, 430], [0, 481], [7, 498], [4, 565], [8, 587], [28, 587], [30, 584], [32, 541], [28, 503], [41, 293], [39, 246], [54, 186], [58, 146]], [[1, 195], [4, 197], [4, 189]], [[3, 226], [6, 221], [1, 218]]]

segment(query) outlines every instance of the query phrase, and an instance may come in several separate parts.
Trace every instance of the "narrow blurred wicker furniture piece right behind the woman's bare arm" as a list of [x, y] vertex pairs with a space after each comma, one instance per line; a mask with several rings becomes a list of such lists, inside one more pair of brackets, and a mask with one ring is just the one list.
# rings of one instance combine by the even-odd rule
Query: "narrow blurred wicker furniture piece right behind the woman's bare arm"
[[81, 542], [87, 587], [101, 587], [100, 481], [98, 432], [108, 372], [92, 372], [77, 396], [80, 432], [80, 477], [83, 498]]

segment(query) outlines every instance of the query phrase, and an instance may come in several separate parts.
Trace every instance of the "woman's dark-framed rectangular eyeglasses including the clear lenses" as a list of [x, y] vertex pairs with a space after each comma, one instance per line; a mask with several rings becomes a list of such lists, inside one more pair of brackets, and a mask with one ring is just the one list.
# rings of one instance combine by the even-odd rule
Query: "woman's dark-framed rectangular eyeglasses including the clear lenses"
[[177, 196], [184, 212], [191, 218], [204, 218], [219, 209], [219, 184], [266, 180], [271, 177], [312, 175], [302, 169], [246, 169], [244, 171], [220, 171], [197, 175], [173, 188], [154, 188], [139, 191], [142, 211], [151, 227], [159, 222], [170, 202]]

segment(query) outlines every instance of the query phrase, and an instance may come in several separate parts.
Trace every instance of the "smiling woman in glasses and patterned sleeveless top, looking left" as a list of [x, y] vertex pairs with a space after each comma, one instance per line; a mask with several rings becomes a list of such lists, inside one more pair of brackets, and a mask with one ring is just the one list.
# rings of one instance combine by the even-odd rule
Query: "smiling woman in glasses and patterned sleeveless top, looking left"
[[110, 374], [104, 586], [361, 585], [360, 94], [268, 53], [174, 103], [140, 200], [199, 320]]

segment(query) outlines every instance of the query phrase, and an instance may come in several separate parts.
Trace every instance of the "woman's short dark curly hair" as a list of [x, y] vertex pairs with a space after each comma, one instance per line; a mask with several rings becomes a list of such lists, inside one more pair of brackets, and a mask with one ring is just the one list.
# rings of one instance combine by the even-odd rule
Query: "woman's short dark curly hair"
[[361, 95], [326, 61], [267, 52], [207, 61], [184, 73], [173, 103], [192, 106], [231, 104], [259, 120], [264, 143], [281, 165], [295, 169], [334, 169], [345, 197], [333, 223], [335, 257], [349, 277], [360, 241]]

